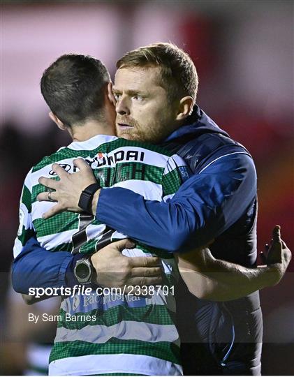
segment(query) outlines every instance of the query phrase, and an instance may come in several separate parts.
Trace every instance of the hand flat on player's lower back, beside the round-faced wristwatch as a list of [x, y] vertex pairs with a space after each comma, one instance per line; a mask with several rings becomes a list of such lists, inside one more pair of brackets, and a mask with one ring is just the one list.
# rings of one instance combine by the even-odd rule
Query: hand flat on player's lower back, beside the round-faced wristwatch
[[150, 286], [161, 283], [161, 260], [157, 257], [126, 257], [122, 250], [132, 249], [128, 239], [113, 242], [91, 256], [96, 283], [104, 287]]

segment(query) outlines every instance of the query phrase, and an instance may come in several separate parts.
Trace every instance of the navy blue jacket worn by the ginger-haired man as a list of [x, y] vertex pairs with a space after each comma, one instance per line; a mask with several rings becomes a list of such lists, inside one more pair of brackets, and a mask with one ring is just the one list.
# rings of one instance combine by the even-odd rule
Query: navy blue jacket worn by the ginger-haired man
[[[216, 258], [256, 262], [256, 170], [242, 145], [230, 139], [197, 106], [163, 143], [184, 158], [193, 175], [169, 202], [145, 200], [125, 188], [102, 189], [96, 217], [144, 244], [187, 251], [215, 239]], [[128, 214], [126, 221], [126, 214]], [[13, 263], [13, 287], [66, 286], [73, 258], [50, 252], [30, 239]]]

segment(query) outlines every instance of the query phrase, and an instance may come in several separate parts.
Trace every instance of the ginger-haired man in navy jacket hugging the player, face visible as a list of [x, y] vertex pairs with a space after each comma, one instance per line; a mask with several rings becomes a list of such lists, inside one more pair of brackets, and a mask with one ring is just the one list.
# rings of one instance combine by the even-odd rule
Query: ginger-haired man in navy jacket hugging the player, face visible
[[[110, 188], [94, 194], [92, 211], [111, 228], [168, 251], [189, 251], [215, 239], [210, 246], [212, 253], [205, 254], [203, 265], [197, 260], [203, 257], [202, 253], [191, 251], [186, 262], [182, 257], [185, 263], [197, 262], [200, 272], [230, 287], [220, 289], [215, 296], [205, 285], [196, 292], [199, 297], [222, 301], [196, 302], [196, 341], [204, 343], [193, 356], [201, 355], [202, 359], [196, 369], [200, 374], [258, 374], [262, 323], [258, 293], [253, 292], [277, 283], [287, 260], [262, 269], [251, 268], [256, 261], [256, 174], [251, 156], [196, 105], [193, 108], [198, 84], [196, 69], [182, 50], [163, 43], [141, 47], [120, 59], [117, 68], [114, 94], [118, 135], [164, 142], [186, 158], [195, 174], [166, 203], [145, 200], [124, 188]], [[158, 90], [156, 95], [166, 97], [157, 101], [154, 89]], [[63, 175], [60, 186], [54, 185], [57, 192], [50, 199], [59, 200], [59, 204], [49, 215], [56, 210], [79, 209], [81, 191], [94, 182], [89, 170], [82, 165], [80, 168], [76, 175]], [[54, 165], [54, 171], [60, 174], [61, 170]], [[67, 186], [64, 198], [61, 189], [68, 182], [71, 187]], [[48, 184], [45, 179], [41, 183]], [[39, 198], [47, 200], [47, 193]], [[111, 252], [113, 244], [109, 248]], [[108, 255], [97, 253], [92, 258], [97, 276], [105, 271]], [[21, 272], [26, 263], [33, 267], [35, 258], [49, 260], [51, 256], [31, 240], [15, 260], [15, 285], [24, 293], [30, 275], [27, 272], [24, 282], [17, 279], [17, 271]], [[73, 275], [73, 265], [68, 260], [66, 276]], [[127, 276], [128, 268], [124, 272]], [[40, 285], [45, 284], [46, 276], [39, 275]], [[64, 275], [54, 272], [56, 283], [64, 279]], [[111, 286], [110, 280], [105, 285]], [[251, 295], [242, 300], [223, 304], [248, 294]], [[192, 323], [189, 327], [192, 332]], [[222, 337], [222, 332], [228, 337]]]

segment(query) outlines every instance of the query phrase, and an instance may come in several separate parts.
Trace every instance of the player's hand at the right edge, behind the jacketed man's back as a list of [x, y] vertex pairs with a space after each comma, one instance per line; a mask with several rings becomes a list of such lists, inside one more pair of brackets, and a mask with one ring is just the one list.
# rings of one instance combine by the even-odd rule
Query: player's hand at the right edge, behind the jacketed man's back
[[281, 227], [274, 226], [272, 230], [272, 242], [265, 246], [265, 253], [262, 254], [263, 262], [270, 267], [275, 286], [284, 276], [291, 261], [292, 253], [285, 242], [281, 239]]

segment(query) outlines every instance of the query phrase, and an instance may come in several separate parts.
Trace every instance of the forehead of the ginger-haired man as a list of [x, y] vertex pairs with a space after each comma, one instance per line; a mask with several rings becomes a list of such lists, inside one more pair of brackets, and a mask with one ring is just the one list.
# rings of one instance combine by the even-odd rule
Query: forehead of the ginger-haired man
[[161, 86], [161, 68], [159, 66], [148, 67], [123, 67], [117, 70], [115, 74], [114, 89], [136, 89], [146, 86], [150, 89], [149, 85], [154, 87]]

